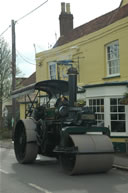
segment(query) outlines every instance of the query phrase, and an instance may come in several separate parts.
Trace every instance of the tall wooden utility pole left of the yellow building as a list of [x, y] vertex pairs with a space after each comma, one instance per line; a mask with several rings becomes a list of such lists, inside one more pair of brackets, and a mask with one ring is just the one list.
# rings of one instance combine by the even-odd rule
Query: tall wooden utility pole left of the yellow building
[[[15, 37], [15, 21], [11, 21], [12, 26], [12, 91], [16, 89], [16, 37]], [[16, 99], [12, 99], [12, 128], [14, 132], [16, 122]], [[13, 133], [12, 133], [13, 135]]]

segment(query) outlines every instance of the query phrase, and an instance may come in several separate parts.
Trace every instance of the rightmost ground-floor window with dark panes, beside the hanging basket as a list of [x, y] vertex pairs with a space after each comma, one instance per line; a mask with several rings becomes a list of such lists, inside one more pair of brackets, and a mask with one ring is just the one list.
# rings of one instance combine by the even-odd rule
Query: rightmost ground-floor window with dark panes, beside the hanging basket
[[125, 106], [120, 104], [121, 98], [110, 99], [111, 132], [125, 132]]

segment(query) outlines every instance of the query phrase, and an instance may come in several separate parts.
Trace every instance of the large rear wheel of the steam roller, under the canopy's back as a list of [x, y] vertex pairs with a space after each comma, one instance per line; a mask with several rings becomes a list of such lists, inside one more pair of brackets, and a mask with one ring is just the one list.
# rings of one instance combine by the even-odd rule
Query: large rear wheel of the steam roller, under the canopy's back
[[14, 132], [14, 151], [19, 163], [32, 163], [38, 154], [35, 123], [31, 119], [19, 120]]

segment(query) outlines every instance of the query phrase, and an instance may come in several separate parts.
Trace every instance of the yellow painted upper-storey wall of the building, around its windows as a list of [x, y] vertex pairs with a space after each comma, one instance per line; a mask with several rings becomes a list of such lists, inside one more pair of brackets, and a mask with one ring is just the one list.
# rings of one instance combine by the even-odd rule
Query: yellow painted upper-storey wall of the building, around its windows
[[[78, 81], [81, 85], [127, 80], [127, 20], [121, 19], [73, 42], [37, 54], [37, 81], [49, 79], [48, 62], [63, 59], [74, 59], [76, 62], [79, 59]], [[119, 40], [120, 77], [107, 78], [105, 45], [114, 40]]]

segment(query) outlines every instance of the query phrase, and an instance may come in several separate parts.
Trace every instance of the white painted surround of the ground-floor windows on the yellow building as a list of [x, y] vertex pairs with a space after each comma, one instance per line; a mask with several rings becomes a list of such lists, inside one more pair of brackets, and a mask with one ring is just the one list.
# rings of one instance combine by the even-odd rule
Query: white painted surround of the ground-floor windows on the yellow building
[[[128, 92], [128, 88], [126, 85], [86, 88], [85, 98], [87, 106], [89, 106], [89, 99], [104, 98], [104, 126], [108, 127], [110, 130], [110, 98], [122, 98], [125, 92]], [[111, 132], [111, 136], [128, 136], [128, 105], [125, 105], [125, 115], [126, 132]]]

